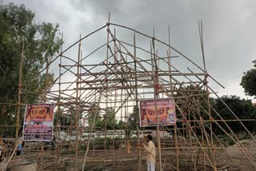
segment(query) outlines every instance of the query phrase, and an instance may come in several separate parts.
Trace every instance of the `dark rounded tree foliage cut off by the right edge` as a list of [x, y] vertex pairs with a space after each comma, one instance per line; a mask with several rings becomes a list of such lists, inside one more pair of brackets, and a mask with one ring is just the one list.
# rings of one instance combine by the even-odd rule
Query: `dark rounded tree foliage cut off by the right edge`
[[245, 89], [246, 95], [256, 96], [256, 60], [253, 61], [254, 69], [248, 70], [242, 76], [242, 81], [240, 85]]

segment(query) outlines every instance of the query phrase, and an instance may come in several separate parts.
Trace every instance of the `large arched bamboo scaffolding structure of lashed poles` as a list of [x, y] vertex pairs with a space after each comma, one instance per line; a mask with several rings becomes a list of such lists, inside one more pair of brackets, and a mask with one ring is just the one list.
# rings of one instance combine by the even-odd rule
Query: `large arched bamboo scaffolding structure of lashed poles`
[[[119, 32], [116, 34], [118, 29], [127, 30], [132, 35], [132, 40], [123, 40], [118, 37]], [[170, 26], [168, 26], [168, 42], [162, 42], [155, 38], [155, 33], [149, 36], [130, 27], [111, 23], [110, 14], [106, 25], [84, 37], [80, 35], [79, 40], [66, 50], [62, 50], [61, 46], [60, 54], [52, 61], [47, 59], [46, 66], [27, 82], [22, 82], [21, 79], [21, 61], [18, 103], [0, 102], [2, 115], [6, 114], [8, 108], [17, 107], [18, 109], [15, 125], [0, 125], [1, 129], [16, 128], [17, 142], [14, 150], [17, 149], [18, 139], [21, 137], [18, 135], [18, 129], [22, 128], [19, 125], [20, 108], [26, 105], [22, 103], [22, 96], [36, 96], [38, 101], [55, 103], [58, 109], [53, 144], [38, 143], [28, 146], [26, 151], [36, 154], [15, 157], [15, 160], [23, 160], [29, 156], [38, 157], [41, 170], [51, 165], [56, 167], [65, 165], [68, 161], [74, 162], [75, 170], [81, 167], [84, 170], [93, 162], [102, 162], [102, 165], [111, 163], [112, 166], [117, 167], [121, 165], [120, 162], [131, 161], [138, 164], [136, 169], [142, 170], [145, 152], [137, 148], [142, 140], [139, 132], [150, 130], [156, 132], [154, 141], [157, 142], [158, 170], [165, 170], [167, 166], [174, 170], [182, 170], [184, 161], [186, 165], [190, 165], [190, 169], [194, 170], [225, 169], [226, 166], [218, 164], [216, 154], [218, 153], [218, 157], [228, 158], [235, 165], [236, 159], [230, 155], [230, 149], [239, 149], [242, 157], [255, 167], [255, 159], [250, 154], [250, 150], [255, 148], [243, 145], [238, 135], [227, 124], [227, 122], [238, 122], [255, 143], [254, 135], [245, 126], [246, 122], [255, 122], [255, 119], [238, 118], [237, 114], [210, 87], [210, 82], [224, 86], [212, 78], [206, 70], [202, 22], [198, 22], [198, 30], [202, 67], [171, 45]], [[94, 38], [99, 31], [106, 33], [106, 41], [92, 48], [87, 40]], [[150, 45], [146, 46], [140, 38], [146, 38]], [[86, 50], [82, 50], [84, 44]], [[72, 53], [77, 46], [78, 56], [74, 59], [75, 55], [69, 53]], [[162, 56], [163, 49], [166, 50], [164, 56]], [[24, 42], [22, 57], [23, 53]], [[184, 66], [178, 66], [176, 62], [184, 59]], [[49, 71], [57, 63], [56, 60], [59, 60], [58, 76], [49, 82]], [[190, 70], [191, 66], [195, 70]], [[32, 92], [29, 87], [36, 85], [33, 81], [40, 74], [46, 74], [46, 82], [42, 84], [45, 89], [42, 92]], [[157, 85], [159, 89], [156, 88]], [[222, 101], [234, 118], [223, 119], [210, 103], [210, 96], [213, 95]], [[154, 99], [154, 108], [157, 109], [156, 101], [161, 98], [174, 99], [176, 124], [159, 125], [156, 116], [156, 127], [141, 128], [138, 113], [139, 101]], [[98, 126], [98, 120], [96, 121], [96, 113], [101, 117], [101, 127]], [[108, 123], [111, 119], [110, 115], [121, 122], [118, 127], [115, 123]], [[88, 122], [90, 120], [90, 123], [82, 125], [82, 118]], [[131, 126], [133, 119], [134, 125]], [[223, 145], [215, 134], [213, 125], [236, 143], [236, 146], [232, 148]], [[125, 136], [115, 138], [112, 134], [109, 137], [107, 133], [111, 131], [113, 133], [121, 131]], [[137, 131], [137, 137], [130, 136], [134, 131]], [[170, 133], [171, 137], [166, 135], [161, 137], [162, 131]], [[66, 134], [62, 135], [62, 133]], [[104, 137], [98, 138], [97, 133], [103, 133]], [[132, 149], [128, 153], [129, 145]], [[45, 151], [44, 148], [55, 148], [55, 151]], [[12, 157], [14, 152], [8, 158], [8, 163], [12, 162]]]

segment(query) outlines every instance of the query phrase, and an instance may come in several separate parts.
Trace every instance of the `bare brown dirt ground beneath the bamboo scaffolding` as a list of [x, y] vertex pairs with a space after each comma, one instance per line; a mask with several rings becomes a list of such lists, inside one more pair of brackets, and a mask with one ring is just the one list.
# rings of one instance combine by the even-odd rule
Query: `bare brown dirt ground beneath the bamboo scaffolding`
[[[252, 162], [256, 161], [256, 146], [255, 141], [242, 140], [242, 145], [250, 155]], [[198, 165], [194, 165], [194, 158], [191, 153], [197, 149], [180, 149], [178, 155], [178, 164], [180, 171], [189, 170], [214, 170], [206, 161], [206, 165], [203, 165], [203, 153], [202, 150], [198, 150]], [[162, 149], [162, 168], [166, 171], [173, 171], [177, 168], [177, 155], [175, 149]], [[81, 168], [82, 161], [84, 159], [84, 151], [81, 151], [78, 156], [78, 166]], [[118, 149], [98, 149], [96, 151], [90, 151], [86, 159], [86, 170], [92, 171], [119, 171], [119, 170], [141, 170], [146, 171], [146, 152], [140, 151], [141, 158], [138, 160], [137, 147], [133, 145], [130, 153], [127, 153], [126, 146], [122, 146]], [[16, 157], [18, 159], [18, 157]], [[56, 151], [47, 150], [42, 152], [29, 152], [22, 158], [28, 158], [38, 162], [38, 168], [43, 170], [74, 170], [74, 153], [58, 153], [58, 165], [56, 165]], [[21, 159], [22, 159], [21, 158]], [[230, 159], [232, 158], [232, 160]], [[246, 157], [242, 150], [238, 148], [238, 145], [230, 145], [226, 149], [216, 149], [215, 160], [218, 171], [254, 171], [254, 167], [250, 163], [250, 159]], [[159, 156], [157, 149], [156, 157], [156, 170], [159, 170]], [[43, 161], [41, 165], [41, 161]], [[140, 161], [140, 162], [139, 162]], [[79, 164], [80, 163], [80, 164]]]

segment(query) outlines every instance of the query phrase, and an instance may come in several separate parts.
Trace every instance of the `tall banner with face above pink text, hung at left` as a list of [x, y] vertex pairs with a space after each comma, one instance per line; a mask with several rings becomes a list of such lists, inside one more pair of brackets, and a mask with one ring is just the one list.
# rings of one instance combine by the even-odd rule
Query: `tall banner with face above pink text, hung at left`
[[54, 104], [26, 105], [24, 141], [51, 141], [54, 124]]

